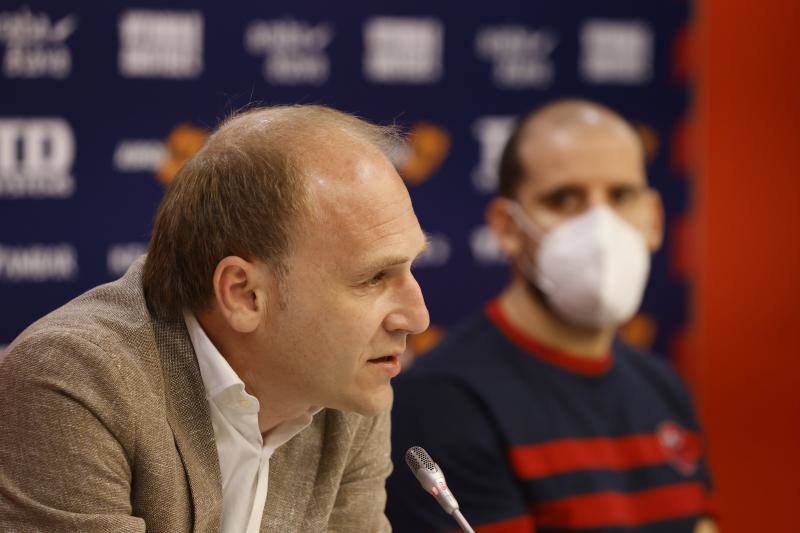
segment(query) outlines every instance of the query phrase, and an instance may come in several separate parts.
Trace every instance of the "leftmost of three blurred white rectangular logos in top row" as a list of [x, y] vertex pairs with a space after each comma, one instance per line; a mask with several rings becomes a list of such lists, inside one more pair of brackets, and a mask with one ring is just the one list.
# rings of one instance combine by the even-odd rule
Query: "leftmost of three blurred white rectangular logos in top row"
[[132, 9], [119, 17], [119, 72], [126, 78], [196, 78], [203, 72], [199, 11]]

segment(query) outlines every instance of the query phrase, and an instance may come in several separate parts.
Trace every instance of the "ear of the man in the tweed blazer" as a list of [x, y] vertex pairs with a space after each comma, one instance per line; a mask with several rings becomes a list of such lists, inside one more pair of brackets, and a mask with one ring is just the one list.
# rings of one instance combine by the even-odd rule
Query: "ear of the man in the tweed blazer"
[[252, 333], [266, 316], [267, 287], [258, 264], [231, 255], [214, 269], [216, 308], [239, 333]]

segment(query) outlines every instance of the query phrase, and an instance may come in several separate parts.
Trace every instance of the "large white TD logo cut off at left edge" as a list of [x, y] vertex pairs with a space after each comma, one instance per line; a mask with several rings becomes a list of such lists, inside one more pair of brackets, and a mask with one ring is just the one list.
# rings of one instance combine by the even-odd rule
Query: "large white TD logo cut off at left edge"
[[75, 191], [75, 138], [61, 118], [0, 119], [0, 198], [66, 198]]

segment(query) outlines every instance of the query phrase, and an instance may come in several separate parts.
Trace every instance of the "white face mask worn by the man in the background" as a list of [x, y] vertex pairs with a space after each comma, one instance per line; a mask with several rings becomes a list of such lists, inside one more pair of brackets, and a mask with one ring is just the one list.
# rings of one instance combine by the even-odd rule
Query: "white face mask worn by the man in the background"
[[650, 271], [641, 232], [600, 205], [543, 234], [519, 204], [511, 206], [522, 230], [539, 243], [536, 261], [523, 261], [523, 271], [563, 320], [618, 326], [639, 309]]

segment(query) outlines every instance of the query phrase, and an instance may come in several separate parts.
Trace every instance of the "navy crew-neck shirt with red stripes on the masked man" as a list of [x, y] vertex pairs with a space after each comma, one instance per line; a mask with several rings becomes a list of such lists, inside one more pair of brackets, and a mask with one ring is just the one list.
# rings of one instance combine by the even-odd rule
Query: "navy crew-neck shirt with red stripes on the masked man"
[[560, 353], [496, 302], [396, 380], [392, 434], [398, 533], [457, 529], [405, 468], [414, 445], [481, 533], [680, 533], [711, 513], [699, 427], [666, 364], [621, 343]]

